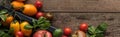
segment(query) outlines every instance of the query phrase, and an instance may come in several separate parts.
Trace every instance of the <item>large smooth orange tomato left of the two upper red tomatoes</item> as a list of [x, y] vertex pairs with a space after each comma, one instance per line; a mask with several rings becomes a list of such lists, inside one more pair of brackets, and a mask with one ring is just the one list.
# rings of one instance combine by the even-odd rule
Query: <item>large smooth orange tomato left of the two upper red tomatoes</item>
[[33, 16], [37, 13], [37, 8], [32, 4], [24, 5], [23, 13], [28, 16]]

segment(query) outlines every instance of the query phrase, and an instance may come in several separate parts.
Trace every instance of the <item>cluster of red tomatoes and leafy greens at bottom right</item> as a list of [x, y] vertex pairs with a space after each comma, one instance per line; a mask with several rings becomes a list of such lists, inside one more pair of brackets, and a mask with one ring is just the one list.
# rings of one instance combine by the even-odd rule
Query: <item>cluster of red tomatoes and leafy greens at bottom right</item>
[[64, 35], [62, 37], [104, 37], [107, 26], [108, 24], [105, 22], [102, 22], [96, 28], [87, 23], [81, 23], [77, 31], [72, 32], [71, 28], [64, 28]]

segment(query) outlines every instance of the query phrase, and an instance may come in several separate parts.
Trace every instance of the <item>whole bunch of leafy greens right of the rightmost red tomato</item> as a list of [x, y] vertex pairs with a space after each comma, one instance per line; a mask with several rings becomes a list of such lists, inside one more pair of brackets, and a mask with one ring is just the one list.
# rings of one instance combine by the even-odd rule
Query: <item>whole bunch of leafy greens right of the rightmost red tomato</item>
[[97, 28], [93, 26], [89, 26], [87, 31], [87, 37], [104, 37], [104, 32], [108, 27], [107, 23], [101, 23], [97, 26]]

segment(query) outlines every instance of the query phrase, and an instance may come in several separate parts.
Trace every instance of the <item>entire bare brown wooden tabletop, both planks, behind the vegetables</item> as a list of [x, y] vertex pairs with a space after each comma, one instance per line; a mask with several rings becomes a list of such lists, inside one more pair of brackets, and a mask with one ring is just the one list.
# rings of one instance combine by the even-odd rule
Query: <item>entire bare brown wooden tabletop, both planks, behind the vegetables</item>
[[[97, 26], [101, 22], [108, 23], [105, 37], [120, 37], [120, 0], [41, 0], [43, 10], [53, 12], [52, 25], [56, 28], [70, 27], [78, 30], [82, 22]], [[27, 1], [34, 3], [33, 0]], [[70, 13], [71, 12], [71, 13]], [[77, 12], [77, 13], [75, 13]], [[79, 13], [80, 12], [80, 13]], [[94, 13], [81, 13], [94, 12]], [[95, 13], [103, 12], [103, 13]]]

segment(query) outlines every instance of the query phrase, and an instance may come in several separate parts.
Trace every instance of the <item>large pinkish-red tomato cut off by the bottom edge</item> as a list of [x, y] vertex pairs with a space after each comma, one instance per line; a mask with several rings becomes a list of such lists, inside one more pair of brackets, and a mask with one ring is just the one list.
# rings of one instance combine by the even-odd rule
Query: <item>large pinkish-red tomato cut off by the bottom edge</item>
[[52, 37], [52, 34], [46, 30], [39, 30], [33, 34], [33, 37]]

